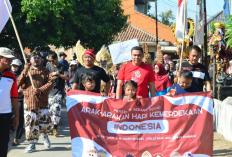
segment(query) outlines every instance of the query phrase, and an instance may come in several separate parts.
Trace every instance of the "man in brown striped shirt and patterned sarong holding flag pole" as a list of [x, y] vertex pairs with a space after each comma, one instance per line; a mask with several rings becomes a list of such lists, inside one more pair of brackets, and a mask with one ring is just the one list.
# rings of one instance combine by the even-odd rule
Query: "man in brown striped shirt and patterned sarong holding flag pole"
[[[41, 134], [44, 146], [50, 148], [48, 132], [52, 127], [50, 112], [48, 110], [48, 94], [53, 87], [53, 80], [50, 72], [41, 67], [42, 57], [39, 52], [31, 54], [30, 63], [25, 64], [24, 70], [17, 78], [18, 85], [24, 85], [24, 119], [25, 136], [29, 147], [25, 153], [32, 153], [36, 150], [35, 144]], [[35, 88], [32, 88], [28, 70], [32, 75]]]

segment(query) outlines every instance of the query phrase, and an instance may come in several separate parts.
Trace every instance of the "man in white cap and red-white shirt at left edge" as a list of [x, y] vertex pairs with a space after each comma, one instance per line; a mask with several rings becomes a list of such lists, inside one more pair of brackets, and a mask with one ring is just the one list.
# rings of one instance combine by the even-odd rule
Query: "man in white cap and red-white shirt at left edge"
[[[11, 59], [14, 56], [11, 50], [0, 47], [0, 156], [6, 157], [8, 142], [10, 140], [10, 128], [19, 125], [18, 88], [15, 75], [10, 72]], [[12, 107], [15, 113], [13, 124]]]

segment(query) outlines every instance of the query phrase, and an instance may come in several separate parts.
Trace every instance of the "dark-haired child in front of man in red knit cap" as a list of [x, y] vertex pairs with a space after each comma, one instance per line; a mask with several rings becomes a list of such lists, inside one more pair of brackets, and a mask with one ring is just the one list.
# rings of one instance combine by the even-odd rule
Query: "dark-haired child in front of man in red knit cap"
[[80, 80], [79, 80], [79, 90], [85, 90], [88, 92], [95, 92], [95, 75], [92, 73], [84, 73], [81, 74]]

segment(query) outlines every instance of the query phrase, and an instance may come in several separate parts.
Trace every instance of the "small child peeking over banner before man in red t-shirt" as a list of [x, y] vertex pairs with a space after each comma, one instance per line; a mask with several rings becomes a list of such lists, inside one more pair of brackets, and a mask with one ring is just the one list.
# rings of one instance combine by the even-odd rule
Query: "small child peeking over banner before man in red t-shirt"
[[[136, 92], [137, 92], [138, 84], [135, 81], [127, 81], [124, 84], [124, 92], [125, 96], [123, 101], [133, 101], [136, 99]], [[137, 96], [138, 99], [141, 99], [141, 96]]]

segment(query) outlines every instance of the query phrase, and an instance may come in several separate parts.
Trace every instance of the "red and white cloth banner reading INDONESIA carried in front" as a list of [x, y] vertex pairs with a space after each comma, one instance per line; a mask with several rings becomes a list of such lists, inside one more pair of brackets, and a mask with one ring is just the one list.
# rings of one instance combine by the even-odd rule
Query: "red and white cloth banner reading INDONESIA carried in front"
[[213, 156], [209, 92], [126, 102], [71, 90], [67, 112], [74, 157]]

